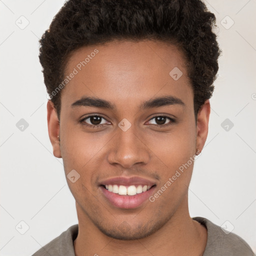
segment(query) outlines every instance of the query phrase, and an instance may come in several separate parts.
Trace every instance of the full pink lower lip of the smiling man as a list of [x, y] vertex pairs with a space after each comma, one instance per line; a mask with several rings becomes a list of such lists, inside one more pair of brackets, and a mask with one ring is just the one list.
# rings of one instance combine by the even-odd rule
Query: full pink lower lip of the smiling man
[[117, 193], [109, 192], [103, 186], [100, 186], [101, 191], [108, 201], [118, 207], [123, 209], [132, 209], [140, 206], [144, 201], [148, 200], [149, 196], [153, 193], [155, 186], [145, 192], [135, 194], [135, 195], [120, 195]]

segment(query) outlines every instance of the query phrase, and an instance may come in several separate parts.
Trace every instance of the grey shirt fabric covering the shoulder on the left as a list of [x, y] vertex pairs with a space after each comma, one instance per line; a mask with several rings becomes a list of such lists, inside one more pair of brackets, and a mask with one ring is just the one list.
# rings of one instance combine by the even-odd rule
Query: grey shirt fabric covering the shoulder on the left
[[73, 240], [78, 233], [78, 224], [68, 227], [59, 236], [37, 250], [32, 256], [75, 256]]

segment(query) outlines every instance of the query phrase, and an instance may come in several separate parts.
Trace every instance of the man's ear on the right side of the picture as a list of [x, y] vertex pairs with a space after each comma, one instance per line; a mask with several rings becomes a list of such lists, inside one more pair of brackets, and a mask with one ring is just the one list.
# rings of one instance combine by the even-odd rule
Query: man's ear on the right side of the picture
[[201, 152], [208, 134], [208, 122], [210, 115], [210, 102], [207, 99], [197, 113], [196, 123], [196, 149]]

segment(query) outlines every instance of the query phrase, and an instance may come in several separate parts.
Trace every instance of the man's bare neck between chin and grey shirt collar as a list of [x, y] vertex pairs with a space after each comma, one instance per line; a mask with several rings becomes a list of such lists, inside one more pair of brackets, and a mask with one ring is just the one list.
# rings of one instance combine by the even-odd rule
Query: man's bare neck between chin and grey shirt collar
[[200, 256], [206, 246], [207, 230], [188, 213], [187, 196], [171, 218], [156, 232], [141, 239], [118, 240], [103, 234], [76, 203], [78, 235], [76, 256], [83, 255], [189, 255]]

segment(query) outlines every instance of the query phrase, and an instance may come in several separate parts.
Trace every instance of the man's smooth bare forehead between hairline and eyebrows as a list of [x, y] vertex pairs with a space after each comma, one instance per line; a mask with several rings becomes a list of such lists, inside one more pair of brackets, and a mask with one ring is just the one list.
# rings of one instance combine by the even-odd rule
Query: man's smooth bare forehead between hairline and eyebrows
[[177, 46], [161, 41], [114, 40], [80, 47], [66, 64], [65, 75], [75, 75], [61, 101], [70, 105], [85, 95], [122, 104], [156, 94], [191, 97], [184, 59]]

